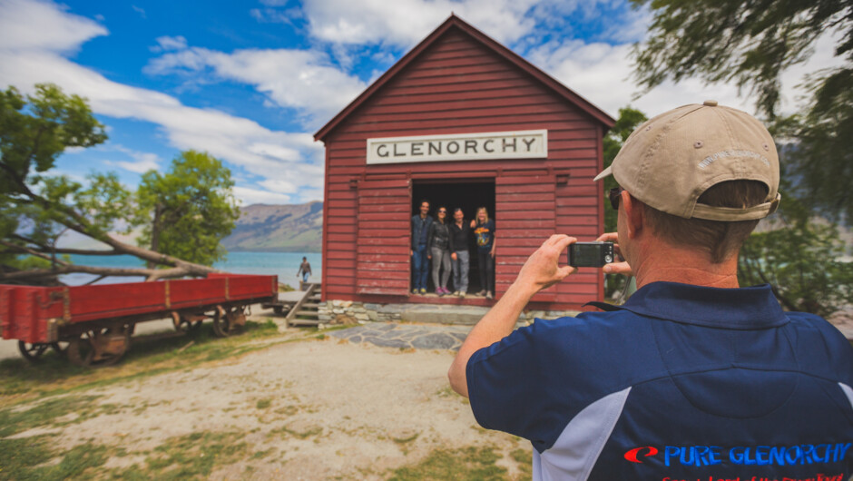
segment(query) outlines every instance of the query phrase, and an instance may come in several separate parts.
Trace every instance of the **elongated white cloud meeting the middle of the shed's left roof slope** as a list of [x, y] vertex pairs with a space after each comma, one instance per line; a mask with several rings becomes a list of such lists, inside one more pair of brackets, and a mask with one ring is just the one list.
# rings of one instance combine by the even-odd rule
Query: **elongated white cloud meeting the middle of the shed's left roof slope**
[[315, 50], [238, 50], [225, 54], [191, 48], [164, 54], [145, 67], [147, 74], [192, 73], [207, 68], [220, 78], [255, 85], [281, 107], [296, 109], [316, 128], [361, 93], [367, 84], [330, 64]]

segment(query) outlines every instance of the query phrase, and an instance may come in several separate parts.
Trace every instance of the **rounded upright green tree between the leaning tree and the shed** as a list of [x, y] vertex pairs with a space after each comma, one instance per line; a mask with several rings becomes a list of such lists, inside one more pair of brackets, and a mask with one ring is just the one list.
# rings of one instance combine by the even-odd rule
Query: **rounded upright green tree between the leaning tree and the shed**
[[220, 241], [240, 217], [233, 185], [228, 168], [206, 152], [181, 152], [169, 172], [146, 172], [137, 195], [151, 221], [140, 245], [204, 265], [221, 260]]

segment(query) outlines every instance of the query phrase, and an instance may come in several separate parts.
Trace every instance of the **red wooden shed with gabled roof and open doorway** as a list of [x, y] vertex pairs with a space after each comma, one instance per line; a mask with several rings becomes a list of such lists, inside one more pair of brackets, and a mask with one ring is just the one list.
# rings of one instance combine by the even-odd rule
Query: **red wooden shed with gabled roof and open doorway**
[[[410, 295], [419, 201], [430, 200], [433, 214], [438, 205], [462, 207], [467, 219], [489, 208], [499, 298], [551, 234], [592, 241], [603, 230], [602, 189], [592, 179], [613, 123], [451, 15], [314, 136], [326, 146], [322, 299], [491, 304]], [[602, 297], [601, 271], [587, 269], [536, 295], [532, 307], [579, 309]]]

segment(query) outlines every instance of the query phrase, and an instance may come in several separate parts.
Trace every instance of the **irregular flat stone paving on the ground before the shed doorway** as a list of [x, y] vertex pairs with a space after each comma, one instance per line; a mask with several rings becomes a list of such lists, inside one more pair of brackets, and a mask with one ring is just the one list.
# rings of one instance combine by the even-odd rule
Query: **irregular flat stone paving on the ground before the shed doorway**
[[383, 348], [458, 350], [471, 326], [432, 326], [370, 322], [355, 328], [336, 330], [330, 335], [349, 342], [369, 342]]

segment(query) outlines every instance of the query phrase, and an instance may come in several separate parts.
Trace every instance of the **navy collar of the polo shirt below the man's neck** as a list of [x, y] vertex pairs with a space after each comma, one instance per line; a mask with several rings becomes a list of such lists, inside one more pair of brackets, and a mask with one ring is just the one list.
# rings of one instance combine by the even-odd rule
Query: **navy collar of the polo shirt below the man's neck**
[[[601, 303], [590, 303], [602, 307]], [[710, 328], [767, 329], [789, 322], [769, 284], [719, 289], [677, 282], [652, 282], [637, 290], [622, 306], [644, 317]]]

